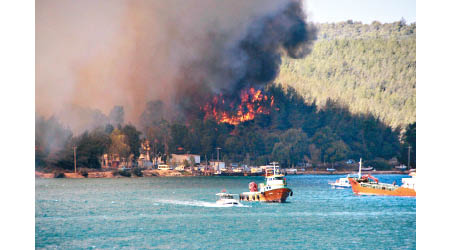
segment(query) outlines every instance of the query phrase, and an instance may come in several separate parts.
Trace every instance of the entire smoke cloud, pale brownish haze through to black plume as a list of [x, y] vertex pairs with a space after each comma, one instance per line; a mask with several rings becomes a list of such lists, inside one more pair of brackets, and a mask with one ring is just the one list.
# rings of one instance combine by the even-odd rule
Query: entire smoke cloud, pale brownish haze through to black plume
[[[41, 0], [36, 112], [82, 130], [91, 118], [80, 114], [116, 105], [135, 122], [149, 100], [185, 110], [234, 98], [272, 81], [281, 55], [303, 56], [313, 38], [292, 0]], [[92, 112], [72, 112], [83, 108]]]

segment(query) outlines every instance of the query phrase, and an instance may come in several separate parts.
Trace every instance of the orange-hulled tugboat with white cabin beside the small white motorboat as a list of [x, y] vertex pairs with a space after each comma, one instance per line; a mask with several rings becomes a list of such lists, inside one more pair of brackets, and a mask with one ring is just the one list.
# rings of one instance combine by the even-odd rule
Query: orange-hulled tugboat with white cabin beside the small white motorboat
[[286, 178], [280, 172], [280, 167], [276, 162], [272, 162], [272, 167], [266, 168], [265, 182], [259, 184], [259, 190], [256, 183], [251, 182], [248, 187], [250, 192], [244, 192], [239, 195], [243, 201], [261, 201], [261, 202], [286, 202], [289, 195], [293, 192], [286, 185]]

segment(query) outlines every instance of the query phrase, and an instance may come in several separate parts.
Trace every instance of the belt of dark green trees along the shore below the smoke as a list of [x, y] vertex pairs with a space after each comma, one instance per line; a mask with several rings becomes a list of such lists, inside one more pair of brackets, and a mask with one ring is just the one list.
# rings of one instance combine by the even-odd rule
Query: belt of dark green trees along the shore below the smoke
[[[287, 167], [305, 162], [331, 164], [363, 157], [383, 169], [388, 167], [389, 159], [403, 160], [404, 149], [415, 141], [415, 125], [414, 132], [412, 127], [408, 128], [400, 140], [398, 129], [393, 130], [370, 114], [351, 114], [347, 107], [332, 100], [318, 109], [315, 104], [306, 103], [293, 88], [271, 85], [266, 91], [276, 100], [271, 112], [258, 114], [254, 120], [236, 126], [204, 116], [176, 122], [160, 117], [146, 123], [142, 134], [131, 124], [107, 124], [75, 137], [67, 134], [56, 159], [47, 157], [49, 154], [45, 152], [49, 150], [43, 144], [36, 150], [36, 164], [72, 168], [73, 145], [78, 147], [78, 163], [85, 167], [99, 168], [98, 159], [104, 153], [136, 160], [139, 142], [146, 139], [152, 147], [152, 157], [164, 156], [166, 159], [171, 153], [187, 152], [211, 159], [215, 157], [216, 147], [220, 147], [221, 159], [226, 162], [259, 165], [275, 160]], [[154, 117], [153, 112], [160, 112], [153, 107], [161, 103], [154, 104], [147, 105], [143, 118]], [[44, 127], [40, 131], [47, 134], [55, 133], [51, 132], [53, 130], [64, 131], [62, 127], [55, 128], [53, 118], [39, 120], [40, 126]], [[36, 134], [36, 143], [41, 145], [39, 138]], [[415, 148], [415, 142], [413, 146]]]

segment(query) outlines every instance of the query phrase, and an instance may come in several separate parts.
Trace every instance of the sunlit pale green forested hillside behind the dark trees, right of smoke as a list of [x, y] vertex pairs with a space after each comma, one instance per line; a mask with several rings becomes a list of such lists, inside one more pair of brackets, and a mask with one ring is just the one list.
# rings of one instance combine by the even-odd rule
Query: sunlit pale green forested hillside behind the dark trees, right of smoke
[[393, 128], [415, 122], [415, 23], [347, 21], [317, 28], [312, 52], [301, 60], [284, 58], [276, 82], [318, 107], [330, 98]]

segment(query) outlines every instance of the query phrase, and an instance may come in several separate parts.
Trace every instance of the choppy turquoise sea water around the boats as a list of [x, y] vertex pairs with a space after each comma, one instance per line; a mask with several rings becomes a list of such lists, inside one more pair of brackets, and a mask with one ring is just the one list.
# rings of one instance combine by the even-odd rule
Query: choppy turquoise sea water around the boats
[[[415, 249], [416, 199], [287, 176], [288, 203], [217, 207], [262, 177], [36, 179], [36, 248]], [[401, 183], [401, 175], [378, 175]]]

